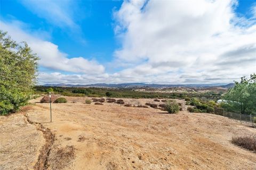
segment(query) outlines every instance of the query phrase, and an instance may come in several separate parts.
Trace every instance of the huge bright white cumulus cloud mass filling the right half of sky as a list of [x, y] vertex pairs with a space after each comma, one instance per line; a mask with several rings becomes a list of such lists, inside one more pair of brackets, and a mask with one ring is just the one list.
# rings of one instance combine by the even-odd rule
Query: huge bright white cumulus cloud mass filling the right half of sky
[[255, 72], [255, 20], [248, 19], [246, 27], [239, 24], [236, 5], [220, 0], [125, 1], [114, 14], [122, 42], [115, 57], [145, 62], [121, 74], [162, 80], [168, 74], [176, 75], [169, 82], [201, 83], [227, 82]]

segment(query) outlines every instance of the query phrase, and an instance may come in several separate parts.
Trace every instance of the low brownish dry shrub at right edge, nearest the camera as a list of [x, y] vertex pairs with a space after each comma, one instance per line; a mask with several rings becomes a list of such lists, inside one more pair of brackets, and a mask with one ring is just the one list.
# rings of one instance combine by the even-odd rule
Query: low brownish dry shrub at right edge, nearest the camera
[[239, 147], [256, 152], [256, 135], [247, 135], [243, 137], [233, 137], [232, 143]]

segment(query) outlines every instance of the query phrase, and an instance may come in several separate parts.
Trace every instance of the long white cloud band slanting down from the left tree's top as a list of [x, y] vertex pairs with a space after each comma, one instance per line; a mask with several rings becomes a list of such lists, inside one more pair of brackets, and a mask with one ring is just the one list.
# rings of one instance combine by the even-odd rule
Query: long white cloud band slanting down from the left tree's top
[[1, 29], [8, 31], [15, 41], [26, 41], [33, 52], [40, 57], [39, 65], [41, 66], [75, 73], [102, 74], [105, 71], [105, 67], [98, 64], [97, 61], [86, 60], [83, 57], [68, 58], [67, 54], [60, 52], [57, 45], [33, 36], [33, 32], [23, 31], [19, 27], [20, 23], [0, 21], [0, 25]]

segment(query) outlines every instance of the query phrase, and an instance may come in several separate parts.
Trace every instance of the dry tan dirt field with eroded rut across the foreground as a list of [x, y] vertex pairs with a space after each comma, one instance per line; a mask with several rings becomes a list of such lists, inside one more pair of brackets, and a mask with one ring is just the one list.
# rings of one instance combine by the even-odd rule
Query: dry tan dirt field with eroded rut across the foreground
[[229, 118], [66, 98], [53, 122], [39, 99], [0, 117], [0, 169], [256, 169], [256, 154], [230, 142], [256, 129]]

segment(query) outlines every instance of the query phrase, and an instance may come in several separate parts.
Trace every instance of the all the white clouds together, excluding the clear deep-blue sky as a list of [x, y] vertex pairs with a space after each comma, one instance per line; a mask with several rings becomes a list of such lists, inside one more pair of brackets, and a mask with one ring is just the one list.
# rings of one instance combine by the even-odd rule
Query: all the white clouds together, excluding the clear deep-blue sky
[[[69, 57], [17, 22], [1, 21], [1, 29], [14, 40], [27, 41], [41, 58], [39, 64], [52, 69], [39, 73], [39, 84], [229, 83], [256, 72], [256, 6], [246, 19], [235, 13], [237, 5], [232, 0], [124, 1], [113, 14], [121, 45], [110, 64], [118, 68], [114, 73], [96, 60]], [[35, 12], [59, 27], [75, 25], [61, 6], [52, 6], [57, 9], [52, 16], [42, 6]]]

